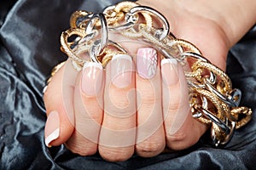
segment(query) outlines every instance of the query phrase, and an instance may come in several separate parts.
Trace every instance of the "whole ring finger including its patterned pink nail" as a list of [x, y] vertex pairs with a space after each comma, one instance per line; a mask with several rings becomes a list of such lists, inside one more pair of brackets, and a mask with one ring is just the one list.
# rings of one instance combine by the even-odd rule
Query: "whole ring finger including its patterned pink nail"
[[156, 156], [164, 150], [161, 107], [160, 57], [154, 48], [137, 50], [137, 144], [139, 156]]

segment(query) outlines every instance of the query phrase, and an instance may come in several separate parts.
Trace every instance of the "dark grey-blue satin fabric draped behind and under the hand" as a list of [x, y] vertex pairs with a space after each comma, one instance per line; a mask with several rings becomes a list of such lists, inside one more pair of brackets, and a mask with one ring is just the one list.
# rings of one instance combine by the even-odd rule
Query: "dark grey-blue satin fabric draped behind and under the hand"
[[256, 27], [230, 49], [227, 67], [234, 88], [243, 93], [242, 105], [253, 108], [253, 120], [224, 148], [208, 144], [207, 133], [188, 150], [116, 163], [44, 145], [44, 80], [67, 59], [60, 51], [61, 31], [73, 11], [99, 12], [111, 3], [118, 1], [1, 0], [0, 169], [255, 169]]

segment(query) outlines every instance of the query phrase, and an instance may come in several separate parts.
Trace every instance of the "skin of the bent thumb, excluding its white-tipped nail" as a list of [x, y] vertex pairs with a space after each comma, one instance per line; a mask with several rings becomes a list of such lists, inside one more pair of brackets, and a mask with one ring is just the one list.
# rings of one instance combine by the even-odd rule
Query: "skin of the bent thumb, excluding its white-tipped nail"
[[[70, 59], [67, 59], [65, 65], [52, 77], [48, 88], [44, 94], [44, 105], [46, 114], [56, 111], [60, 118], [59, 136], [49, 143], [51, 145], [63, 144], [69, 139], [74, 129], [74, 112], [73, 112], [73, 88], [77, 71], [73, 69]], [[52, 126], [47, 120], [45, 130]], [[47, 136], [45, 136], [45, 139]]]

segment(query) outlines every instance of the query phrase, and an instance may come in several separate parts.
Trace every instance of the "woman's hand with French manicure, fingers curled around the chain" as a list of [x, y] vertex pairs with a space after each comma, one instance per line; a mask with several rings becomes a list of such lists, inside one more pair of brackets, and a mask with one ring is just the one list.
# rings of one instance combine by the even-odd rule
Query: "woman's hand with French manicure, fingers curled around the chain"
[[[212, 64], [225, 68], [233, 42], [218, 17], [213, 20], [177, 1], [154, 3], [141, 2], [165, 14], [177, 38], [193, 42]], [[88, 63], [80, 72], [67, 59], [52, 77], [44, 94], [45, 143], [65, 143], [82, 156], [99, 150], [108, 161], [124, 161], [135, 152], [156, 156], [166, 145], [183, 150], [195, 144], [207, 127], [191, 116], [182, 66], [175, 59], [160, 60], [154, 48], [141, 42], [113, 38], [129, 55], [114, 56], [106, 70]]]

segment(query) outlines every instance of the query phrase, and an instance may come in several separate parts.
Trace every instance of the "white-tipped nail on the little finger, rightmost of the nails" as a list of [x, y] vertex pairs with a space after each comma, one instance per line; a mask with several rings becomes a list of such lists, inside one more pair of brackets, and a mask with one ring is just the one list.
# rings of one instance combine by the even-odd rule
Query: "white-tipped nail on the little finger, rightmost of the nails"
[[176, 59], [162, 59], [161, 60], [161, 74], [162, 81], [171, 86], [178, 82]]

